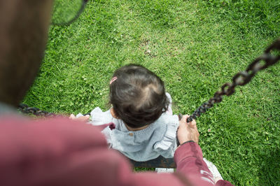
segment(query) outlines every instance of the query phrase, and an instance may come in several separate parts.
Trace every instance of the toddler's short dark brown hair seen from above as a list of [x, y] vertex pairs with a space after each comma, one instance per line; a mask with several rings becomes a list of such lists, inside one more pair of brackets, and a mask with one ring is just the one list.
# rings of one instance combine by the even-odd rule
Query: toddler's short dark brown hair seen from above
[[128, 64], [116, 70], [110, 85], [110, 103], [117, 117], [132, 128], [158, 120], [169, 101], [163, 81], [144, 66]]

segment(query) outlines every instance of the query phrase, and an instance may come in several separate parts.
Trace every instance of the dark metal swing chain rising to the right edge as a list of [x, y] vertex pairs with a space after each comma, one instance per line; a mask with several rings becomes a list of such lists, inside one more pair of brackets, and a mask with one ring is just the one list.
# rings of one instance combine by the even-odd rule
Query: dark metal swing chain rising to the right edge
[[[272, 45], [269, 45], [269, 47], [262, 55], [260, 55], [260, 57], [257, 57], [253, 62], [251, 62], [251, 64], [248, 65], [246, 71], [240, 71], [235, 76], [233, 76], [232, 83], [225, 83], [221, 87], [221, 90], [218, 90], [214, 94], [214, 97], [202, 103], [202, 106], [197, 108], [197, 110], [195, 110], [195, 112], [190, 115], [190, 117], [188, 117], [187, 122], [191, 122], [197, 117], [200, 117], [200, 115], [205, 113], [207, 109], [213, 107], [214, 103], [220, 103], [223, 100], [224, 95], [230, 96], [235, 93], [235, 87], [237, 87], [237, 85], [244, 86], [249, 83], [253, 76], [258, 73], [258, 71], [267, 69], [268, 66], [276, 64], [276, 62], [280, 60], [280, 53], [278, 55], [272, 55], [271, 52], [273, 50], [278, 50], [280, 52], [280, 38], [274, 41]], [[262, 62], [265, 62], [265, 64]]]

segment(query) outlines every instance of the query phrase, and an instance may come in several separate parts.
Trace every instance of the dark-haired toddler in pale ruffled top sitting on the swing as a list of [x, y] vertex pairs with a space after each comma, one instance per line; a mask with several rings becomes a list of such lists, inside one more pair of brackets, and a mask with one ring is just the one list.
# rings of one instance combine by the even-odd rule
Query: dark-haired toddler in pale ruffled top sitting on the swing
[[179, 117], [172, 115], [171, 96], [155, 73], [137, 64], [121, 67], [109, 97], [112, 108], [94, 108], [90, 123], [111, 124], [102, 131], [111, 148], [138, 162], [174, 156]]

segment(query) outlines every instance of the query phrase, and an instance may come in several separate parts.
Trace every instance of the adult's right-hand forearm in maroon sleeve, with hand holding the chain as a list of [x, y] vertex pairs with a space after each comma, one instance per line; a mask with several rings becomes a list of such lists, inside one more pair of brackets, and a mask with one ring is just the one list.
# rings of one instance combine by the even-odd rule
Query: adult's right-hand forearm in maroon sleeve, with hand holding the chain
[[[177, 171], [188, 176], [193, 183], [200, 181], [214, 185], [214, 179], [209, 171], [207, 164], [203, 160], [202, 150], [198, 145], [200, 134], [197, 131], [195, 120], [187, 123], [188, 115], [184, 115], [180, 120], [177, 138], [179, 140], [179, 148], [177, 148], [174, 161], [176, 162]], [[203, 183], [202, 185], [206, 185]], [[216, 185], [232, 185], [225, 180], [218, 180]]]

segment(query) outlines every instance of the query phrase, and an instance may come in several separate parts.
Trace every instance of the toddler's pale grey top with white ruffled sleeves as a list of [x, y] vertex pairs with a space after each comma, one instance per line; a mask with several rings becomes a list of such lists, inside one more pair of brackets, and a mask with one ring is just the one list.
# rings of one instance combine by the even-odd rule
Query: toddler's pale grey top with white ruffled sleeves
[[[170, 99], [169, 94], [167, 96]], [[162, 155], [165, 158], [174, 157], [177, 148], [176, 131], [179, 127], [178, 115], [172, 115], [169, 110], [146, 129], [129, 131], [122, 120], [111, 115], [110, 110], [103, 112], [99, 107], [90, 113], [90, 124], [102, 125], [113, 122], [115, 129], [106, 127], [102, 133], [106, 136], [109, 146], [137, 162], [145, 162]]]

